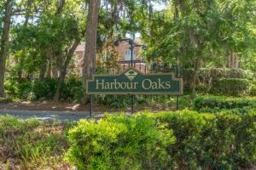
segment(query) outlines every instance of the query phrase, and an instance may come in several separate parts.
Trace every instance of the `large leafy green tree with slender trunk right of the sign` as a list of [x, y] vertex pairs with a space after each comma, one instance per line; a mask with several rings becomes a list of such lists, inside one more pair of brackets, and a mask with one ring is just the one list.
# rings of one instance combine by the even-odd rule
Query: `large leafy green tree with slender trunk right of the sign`
[[149, 59], [158, 56], [163, 62], [180, 62], [181, 67], [192, 69], [195, 96], [198, 69], [212, 64], [226, 66], [223, 64], [230, 55], [233, 57], [229, 63], [234, 67], [239, 54], [255, 47], [253, 36], [248, 36], [253, 32], [248, 26], [253, 26], [255, 5], [247, 0], [169, 2], [166, 10], [154, 12], [151, 22], [141, 17], [143, 40], [148, 42], [147, 55]]

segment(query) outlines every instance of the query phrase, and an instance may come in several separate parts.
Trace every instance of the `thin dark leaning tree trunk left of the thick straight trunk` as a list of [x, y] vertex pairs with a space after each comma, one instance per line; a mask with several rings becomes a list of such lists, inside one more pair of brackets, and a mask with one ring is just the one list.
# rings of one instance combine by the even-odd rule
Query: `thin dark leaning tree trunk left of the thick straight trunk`
[[59, 99], [60, 99], [60, 97], [61, 97], [61, 88], [62, 88], [62, 86], [63, 86], [64, 79], [65, 79], [66, 74], [67, 74], [67, 66], [69, 65], [69, 62], [70, 62], [70, 60], [72, 59], [72, 56], [73, 56], [73, 54], [74, 54], [74, 51], [75, 51], [75, 49], [78, 47], [79, 42], [80, 42], [79, 39], [76, 40], [76, 41], [73, 43], [73, 47], [70, 48], [69, 51], [68, 51], [66, 60], [65, 60], [64, 65], [62, 66], [62, 69], [61, 69], [61, 75], [60, 75], [60, 77], [58, 78], [57, 89], [56, 89], [56, 92], [55, 92], [55, 102], [58, 102]]

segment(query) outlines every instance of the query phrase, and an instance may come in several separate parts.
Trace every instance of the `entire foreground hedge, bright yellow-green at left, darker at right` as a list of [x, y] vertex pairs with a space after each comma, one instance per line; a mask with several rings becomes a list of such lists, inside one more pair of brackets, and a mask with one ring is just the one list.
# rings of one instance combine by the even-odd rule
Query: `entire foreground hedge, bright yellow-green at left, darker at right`
[[83, 120], [69, 131], [79, 169], [241, 169], [256, 160], [256, 111], [144, 112]]

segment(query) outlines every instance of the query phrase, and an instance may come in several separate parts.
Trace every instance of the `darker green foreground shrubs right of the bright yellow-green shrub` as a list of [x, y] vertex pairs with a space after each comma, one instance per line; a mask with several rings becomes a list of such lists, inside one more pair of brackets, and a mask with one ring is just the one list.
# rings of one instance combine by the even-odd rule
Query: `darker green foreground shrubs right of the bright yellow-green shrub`
[[256, 159], [255, 110], [243, 115], [162, 112], [153, 117], [173, 130], [177, 142], [167, 151], [176, 169], [241, 169]]

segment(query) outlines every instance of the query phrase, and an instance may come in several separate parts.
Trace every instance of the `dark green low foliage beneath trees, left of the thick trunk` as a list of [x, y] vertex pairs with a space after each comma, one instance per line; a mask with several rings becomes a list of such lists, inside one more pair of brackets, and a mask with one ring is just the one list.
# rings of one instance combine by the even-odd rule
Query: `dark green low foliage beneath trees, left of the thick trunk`
[[[6, 94], [9, 97], [18, 99], [53, 99], [56, 90], [56, 80], [54, 78], [45, 78], [44, 81], [22, 81], [9, 79], [5, 81]], [[64, 82], [62, 87], [62, 100], [79, 102], [82, 99], [84, 90], [82, 81], [75, 77], [70, 77]]]

